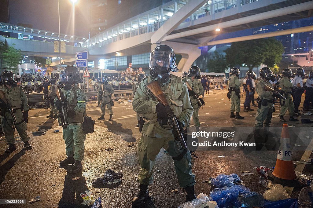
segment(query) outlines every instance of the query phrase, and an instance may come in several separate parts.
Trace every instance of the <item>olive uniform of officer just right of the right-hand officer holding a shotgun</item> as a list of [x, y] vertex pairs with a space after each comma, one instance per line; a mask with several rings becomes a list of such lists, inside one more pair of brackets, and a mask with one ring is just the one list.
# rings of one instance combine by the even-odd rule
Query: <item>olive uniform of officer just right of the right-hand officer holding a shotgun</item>
[[293, 87], [293, 84], [290, 82], [290, 79], [288, 79], [287, 77], [283, 77], [280, 79], [279, 87], [282, 91], [284, 91], [283, 95], [286, 98], [285, 104], [280, 107], [279, 115], [285, 115], [288, 109], [289, 116], [293, 116], [295, 112], [295, 105], [291, 97], [291, 88]]

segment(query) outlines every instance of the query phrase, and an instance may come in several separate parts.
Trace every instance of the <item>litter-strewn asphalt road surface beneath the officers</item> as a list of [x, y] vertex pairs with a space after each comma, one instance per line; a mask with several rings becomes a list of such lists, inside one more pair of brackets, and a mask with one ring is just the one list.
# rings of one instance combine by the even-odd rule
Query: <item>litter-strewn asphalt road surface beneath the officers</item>
[[[242, 112], [244, 120], [229, 118], [230, 102], [226, 98], [226, 93], [226, 90], [217, 90], [206, 95], [206, 104], [203, 109], [199, 110], [200, 122], [203, 122], [201, 125], [203, 127], [252, 127], [255, 111]], [[244, 97], [241, 99], [241, 103], [243, 102]], [[241, 107], [243, 109], [243, 106]], [[48, 109], [31, 109], [28, 133], [33, 149], [23, 151], [23, 142], [18, 139], [17, 133], [17, 150], [13, 153], [2, 154], [7, 145], [5, 142], [0, 143], [0, 153], [2, 154], [0, 156], [0, 198], [26, 199], [27, 203], [24, 205], [0, 205], [0, 207], [88, 207], [81, 204], [83, 200], [79, 195], [87, 190], [87, 187], [93, 191], [96, 197], [102, 197], [103, 207], [131, 207], [131, 200], [136, 195], [139, 186], [135, 178], [140, 169], [136, 147], [141, 134], [136, 127], [136, 113], [130, 102], [115, 104], [113, 110], [113, 121], [99, 122], [97, 118], [100, 117], [100, 108], [96, 108], [95, 102], [87, 104], [87, 114], [96, 120], [95, 132], [87, 134], [85, 140], [85, 160], [82, 162], [82, 173], [72, 175], [68, 172], [71, 165], [59, 167], [59, 161], [64, 160], [66, 156], [62, 129], [59, 129], [57, 120], [46, 118], [46, 115], [49, 114]], [[275, 118], [277, 115], [278, 112], [275, 112], [272, 125], [281, 127], [282, 123], [279, 118]], [[109, 118], [108, 114], [105, 118]], [[313, 119], [313, 116], [301, 116], [301, 118]], [[312, 125], [299, 122], [287, 123], [295, 126], [293, 128], [304, 128], [305, 131], [311, 129]], [[47, 130], [46, 134], [38, 133], [39, 129]], [[59, 129], [60, 132], [53, 133], [55, 129]], [[308, 136], [310, 139], [306, 140], [309, 143], [312, 133]], [[4, 137], [0, 140], [4, 140]], [[128, 147], [127, 145], [131, 141], [135, 142], [135, 145]], [[106, 148], [113, 150], [105, 151]], [[312, 158], [312, 149], [313, 146], [309, 145], [305, 155], [304, 150], [293, 151], [293, 160], [299, 161], [301, 157], [303, 157], [302, 159]], [[199, 150], [196, 155], [198, 158], [192, 159], [192, 170], [196, 175], [197, 182], [196, 194], [209, 194], [212, 187], [208, 183], [202, 183], [202, 180], [216, 177], [221, 173], [241, 175], [240, 170], [256, 173], [254, 168], [260, 165], [273, 167], [277, 151]], [[220, 155], [225, 157], [219, 158]], [[311, 165], [295, 167], [300, 172], [303, 170], [305, 174], [313, 174]], [[102, 177], [107, 169], [122, 172], [124, 180], [116, 185], [93, 187], [91, 182]], [[153, 195], [142, 207], [171, 208], [182, 204], [185, 195], [177, 183], [173, 160], [164, 153], [163, 149], [157, 157], [155, 170], [160, 170], [160, 172], [155, 171], [154, 184], [149, 186], [149, 191]], [[80, 179], [72, 180], [75, 176]], [[266, 190], [259, 185], [257, 174], [240, 176], [240, 178], [251, 191], [262, 194]], [[178, 189], [178, 193], [172, 193], [171, 190], [174, 189]], [[291, 197], [297, 198], [299, 191], [299, 188], [293, 189]], [[41, 201], [30, 204], [29, 199], [36, 196], [40, 196]]]

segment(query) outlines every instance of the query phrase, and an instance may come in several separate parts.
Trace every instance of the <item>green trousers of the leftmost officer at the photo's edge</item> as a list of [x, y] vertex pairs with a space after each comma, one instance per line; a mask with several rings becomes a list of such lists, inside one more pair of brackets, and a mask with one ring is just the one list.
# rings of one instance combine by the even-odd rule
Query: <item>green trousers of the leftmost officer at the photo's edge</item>
[[[17, 109], [14, 112], [14, 116], [17, 122], [21, 122], [23, 120], [23, 114], [22, 114], [21, 109]], [[11, 118], [11, 116], [9, 116], [8, 113], [5, 113], [5, 117]], [[14, 129], [12, 125], [13, 125], [13, 119], [2, 118], [2, 121], [1, 121], [2, 131], [5, 133], [5, 140], [7, 141], [8, 145], [13, 145], [15, 143]], [[18, 131], [18, 134], [20, 135], [21, 140], [23, 142], [29, 141], [29, 136], [26, 131], [27, 124], [25, 122], [22, 122], [19, 125], [15, 125], [15, 128]]]

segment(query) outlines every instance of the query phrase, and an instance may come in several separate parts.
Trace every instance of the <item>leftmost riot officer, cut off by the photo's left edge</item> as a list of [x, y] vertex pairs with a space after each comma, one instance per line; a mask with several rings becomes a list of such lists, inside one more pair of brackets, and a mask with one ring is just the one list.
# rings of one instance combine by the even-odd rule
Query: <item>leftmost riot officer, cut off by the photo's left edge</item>
[[[29, 111], [27, 96], [24, 90], [16, 85], [17, 81], [15, 74], [11, 71], [5, 71], [2, 73], [0, 84], [0, 90], [4, 94], [4, 98], [0, 99], [1, 126], [5, 133], [5, 140], [9, 145], [5, 152], [10, 153], [16, 150], [13, 125], [18, 131], [21, 140], [24, 142], [24, 147], [30, 150], [32, 149], [32, 146], [29, 144], [29, 136], [26, 131]], [[13, 109], [16, 123], [14, 123], [15, 121], [10, 113], [10, 109]]]

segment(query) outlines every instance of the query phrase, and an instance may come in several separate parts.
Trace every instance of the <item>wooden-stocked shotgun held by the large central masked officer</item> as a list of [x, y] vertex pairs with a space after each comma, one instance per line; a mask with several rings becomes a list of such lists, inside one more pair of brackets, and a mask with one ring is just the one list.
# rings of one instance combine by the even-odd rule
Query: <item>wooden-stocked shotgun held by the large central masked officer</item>
[[[158, 81], [150, 82], [146, 86], [150, 90], [150, 92], [156, 97], [156, 99], [158, 99], [160, 101], [160, 103], [162, 105], [164, 105], [164, 107], [168, 106], [166, 98], [162, 92], [162, 89], [161, 89]], [[179, 150], [187, 149], [187, 145], [186, 145], [184, 137], [181, 133], [181, 129], [179, 128], [178, 119], [177, 119], [176, 115], [174, 114], [173, 110], [169, 106], [166, 109], [167, 109], [168, 124], [170, 125], [172, 130], [176, 131], [176, 133], [178, 135], [176, 137], [176, 139], [179, 140], [179, 143], [181, 145], [179, 147]]]

